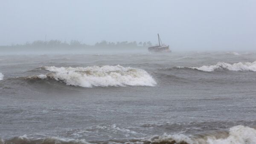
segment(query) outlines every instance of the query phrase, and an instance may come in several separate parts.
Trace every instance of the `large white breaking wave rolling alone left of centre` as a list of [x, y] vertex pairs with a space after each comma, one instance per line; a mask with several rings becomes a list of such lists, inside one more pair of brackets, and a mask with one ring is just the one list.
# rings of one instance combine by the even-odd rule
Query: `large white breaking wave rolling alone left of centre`
[[55, 79], [67, 85], [85, 88], [108, 86], [155, 86], [155, 80], [144, 70], [138, 68], [125, 68], [121, 65], [102, 67], [55, 67], [46, 66], [42, 69], [51, 73], [29, 76], [29, 79]]

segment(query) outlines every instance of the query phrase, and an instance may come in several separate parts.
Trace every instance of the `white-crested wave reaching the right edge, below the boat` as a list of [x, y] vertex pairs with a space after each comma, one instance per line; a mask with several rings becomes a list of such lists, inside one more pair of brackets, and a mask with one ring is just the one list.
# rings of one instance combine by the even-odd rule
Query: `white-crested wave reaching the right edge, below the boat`
[[191, 68], [199, 71], [215, 71], [217, 69], [226, 69], [229, 71], [256, 71], [255, 62], [238, 62], [229, 64], [226, 62], [218, 62], [216, 65], [203, 65], [201, 67], [176, 67], [176, 68]]

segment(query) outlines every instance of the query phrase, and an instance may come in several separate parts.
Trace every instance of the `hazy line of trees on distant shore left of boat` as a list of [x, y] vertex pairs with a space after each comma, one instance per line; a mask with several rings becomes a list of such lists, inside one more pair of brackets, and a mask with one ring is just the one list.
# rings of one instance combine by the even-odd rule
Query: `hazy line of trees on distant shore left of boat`
[[151, 42], [97, 42], [95, 45], [82, 44], [80, 41], [71, 40], [70, 43], [62, 42], [61, 40], [49, 40], [41, 41], [37, 40], [32, 43], [26, 42], [22, 45], [7, 45], [0, 46], [1, 50], [76, 50], [76, 49], [95, 49], [95, 48], [105, 48], [105, 49], [124, 49], [124, 48], [145, 48], [152, 46]]

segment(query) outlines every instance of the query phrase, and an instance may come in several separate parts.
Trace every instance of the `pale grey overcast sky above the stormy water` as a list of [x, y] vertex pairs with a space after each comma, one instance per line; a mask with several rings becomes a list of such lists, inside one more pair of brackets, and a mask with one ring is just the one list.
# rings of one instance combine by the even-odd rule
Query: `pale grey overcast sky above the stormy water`
[[151, 41], [176, 50], [256, 50], [256, 0], [0, 0], [0, 45]]

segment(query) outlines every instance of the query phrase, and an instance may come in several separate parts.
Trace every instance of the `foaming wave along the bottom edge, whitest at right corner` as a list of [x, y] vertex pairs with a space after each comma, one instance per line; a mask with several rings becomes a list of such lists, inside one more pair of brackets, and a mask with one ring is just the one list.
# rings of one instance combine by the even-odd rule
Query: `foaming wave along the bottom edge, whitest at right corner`
[[208, 134], [185, 135], [163, 134], [138, 139], [113, 139], [107, 141], [85, 141], [84, 139], [67, 139], [58, 137], [28, 138], [19, 136], [9, 140], [1, 139], [0, 144], [255, 144], [256, 130], [251, 127], [238, 125], [229, 131], [215, 131]]

